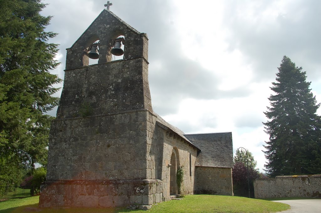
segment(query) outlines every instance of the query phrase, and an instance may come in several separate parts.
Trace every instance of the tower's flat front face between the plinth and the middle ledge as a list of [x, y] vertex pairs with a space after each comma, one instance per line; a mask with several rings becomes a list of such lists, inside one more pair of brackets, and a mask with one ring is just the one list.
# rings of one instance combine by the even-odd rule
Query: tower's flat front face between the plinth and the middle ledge
[[55, 120], [47, 180], [150, 179], [147, 110]]

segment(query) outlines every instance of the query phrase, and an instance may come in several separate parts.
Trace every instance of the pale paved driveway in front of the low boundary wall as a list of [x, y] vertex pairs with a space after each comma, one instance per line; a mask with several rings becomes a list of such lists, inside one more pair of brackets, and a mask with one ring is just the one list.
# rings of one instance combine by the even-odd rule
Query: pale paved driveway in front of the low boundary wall
[[290, 210], [282, 211], [284, 213], [311, 213], [321, 212], [321, 200], [275, 200], [273, 202], [286, 203], [291, 206]]

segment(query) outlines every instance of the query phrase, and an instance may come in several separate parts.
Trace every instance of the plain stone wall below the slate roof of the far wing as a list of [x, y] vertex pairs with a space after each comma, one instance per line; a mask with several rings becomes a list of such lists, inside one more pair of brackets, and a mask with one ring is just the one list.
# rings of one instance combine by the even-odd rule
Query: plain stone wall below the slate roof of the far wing
[[232, 169], [196, 166], [194, 193], [232, 196]]

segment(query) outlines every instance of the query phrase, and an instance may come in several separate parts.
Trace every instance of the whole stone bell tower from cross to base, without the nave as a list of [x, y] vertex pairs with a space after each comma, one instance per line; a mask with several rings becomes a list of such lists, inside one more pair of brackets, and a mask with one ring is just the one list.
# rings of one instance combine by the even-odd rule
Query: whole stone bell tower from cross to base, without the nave
[[[67, 49], [40, 207], [144, 206], [162, 197], [149, 154], [156, 115], [147, 35], [109, 11], [110, 5]], [[112, 54], [122, 53], [119, 43], [125, 43], [124, 57], [113, 61]], [[98, 64], [89, 66], [89, 57]]]

